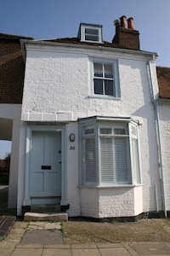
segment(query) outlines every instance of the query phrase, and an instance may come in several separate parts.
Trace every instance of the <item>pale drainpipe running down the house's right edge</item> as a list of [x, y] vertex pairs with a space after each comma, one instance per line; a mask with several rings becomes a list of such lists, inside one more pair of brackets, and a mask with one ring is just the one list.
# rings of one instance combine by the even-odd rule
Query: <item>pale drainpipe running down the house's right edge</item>
[[[152, 55], [152, 58], [150, 61], [155, 60], [155, 55]], [[162, 155], [161, 155], [161, 131], [160, 131], [160, 118], [159, 118], [159, 110], [158, 110], [158, 102], [155, 99], [154, 96], [154, 87], [152, 82], [152, 74], [151, 74], [151, 67], [150, 67], [150, 61], [147, 62], [148, 68], [149, 68], [149, 79], [150, 79], [150, 94], [151, 94], [151, 100], [154, 104], [154, 107], [156, 109], [156, 137], [157, 137], [157, 144], [158, 144], [158, 154], [159, 154], [159, 166], [161, 170], [161, 188], [162, 188], [162, 200], [163, 200], [163, 207], [165, 212], [165, 217], [167, 218], [167, 206], [166, 206], [166, 195], [165, 195], [165, 186], [164, 186], [164, 172], [163, 172], [163, 165], [162, 165]]]

